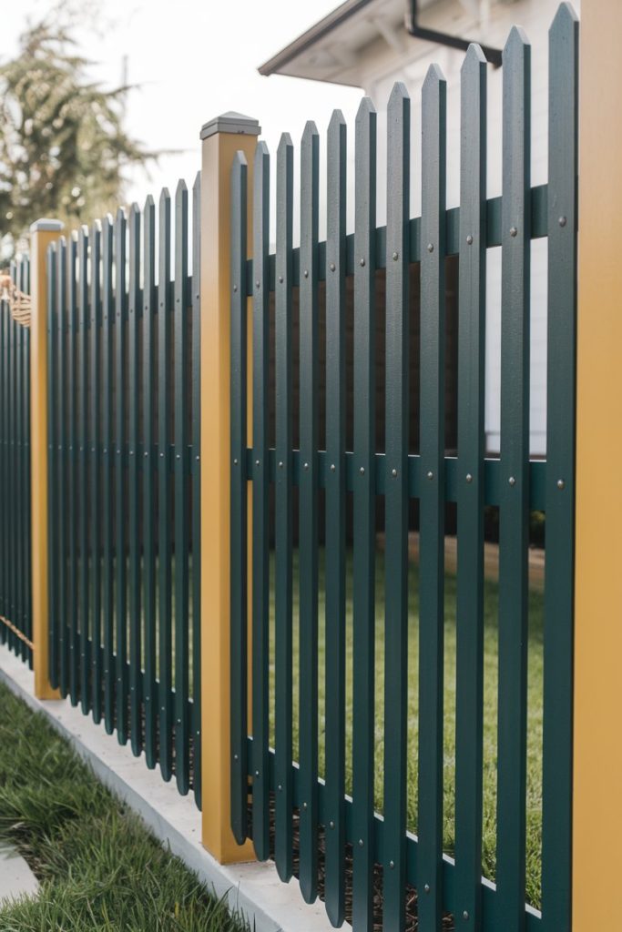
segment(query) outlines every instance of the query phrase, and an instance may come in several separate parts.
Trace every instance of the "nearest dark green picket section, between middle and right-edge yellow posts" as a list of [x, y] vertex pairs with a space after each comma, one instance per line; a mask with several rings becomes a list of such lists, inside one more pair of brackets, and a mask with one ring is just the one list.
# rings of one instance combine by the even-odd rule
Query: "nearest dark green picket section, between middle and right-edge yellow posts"
[[[232, 166], [232, 829], [239, 843], [253, 840], [258, 858], [274, 857], [284, 881], [296, 874], [305, 899], [321, 895], [333, 925], [347, 919], [355, 932], [415, 922], [420, 932], [570, 929], [578, 35], [571, 7], [560, 7], [549, 35], [546, 185], [531, 186], [531, 47], [518, 29], [503, 56], [499, 198], [486, 197], [486, 60], [475, 45], [462, 71], [460, 207], [445, 204], [446, 82], [436, 66], [422, 87], [420, 218], [408, 216], [410, 102], [400, 85], [388, 106], [385, 227], [376, 226], [376, 113], [367, 99], [356, 118], [351, 234], [339, 112], [327, 135], [325, 242], [314, 124], [300, 146], [297, 249], [289, 137], [277, 153], [274, 254], [267, 146], [257, 147], [252, 191], [244, 159]], [[538, 238], [548, 239], [548, 456], [530, 461], [530, 255]], [[501, 455], [486, 459], [493, 246], [502, 256]], [[446, 358], [449, 275], [458, 289], [457, 363]], [[457, 364], [457, 455], [447, 429], [449, 364]], [[482, 842], [490, 780], [487, 509], [500, 522], [492, 870]], [[533, 512], [546, 513], [544, 673], [535, 699], [544, 731], [541, 849], [527, 802]], [[448, 514], [457, 524], [455, 583], [444, 565]], [[408, 532], [415, 528], [413, 583]], [[448, 625], [455, 632], [449, 682]], [[448, 687], [456, 696], [450, 788]], [[527, 895], [528, 842], [541, 857], [540, 909]]]

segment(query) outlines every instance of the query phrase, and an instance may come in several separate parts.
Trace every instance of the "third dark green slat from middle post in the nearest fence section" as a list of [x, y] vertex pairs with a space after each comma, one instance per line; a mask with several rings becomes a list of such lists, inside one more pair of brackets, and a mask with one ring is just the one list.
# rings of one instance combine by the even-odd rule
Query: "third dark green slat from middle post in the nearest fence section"
[[293, 872], [292, 786], [292, 235], [294, 146], [277, 152], [275, 284], [275, 799], [274, 853], [286, 883]]

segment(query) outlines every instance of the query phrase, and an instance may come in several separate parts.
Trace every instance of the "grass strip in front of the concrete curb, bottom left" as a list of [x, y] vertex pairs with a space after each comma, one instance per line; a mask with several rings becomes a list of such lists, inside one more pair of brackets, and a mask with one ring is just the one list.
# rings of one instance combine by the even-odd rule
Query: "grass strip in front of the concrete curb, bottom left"
[[243, 932], [95, 778], [47, 720], [0, 685], [0, 838], [41, 886], [3, 932]]

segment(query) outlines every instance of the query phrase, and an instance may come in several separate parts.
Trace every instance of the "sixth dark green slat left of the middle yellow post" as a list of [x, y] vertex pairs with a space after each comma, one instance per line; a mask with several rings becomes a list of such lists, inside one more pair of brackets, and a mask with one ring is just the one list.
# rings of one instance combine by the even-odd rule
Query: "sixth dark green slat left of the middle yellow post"
[[127, 496], [126, 496], [126, 391], [127, 391], [127, 294], [126, 230], [123, 208], [115, 224], [115, 590], [117, 661], [117, 738], [128, 740], [128, 616], [127, 616]]

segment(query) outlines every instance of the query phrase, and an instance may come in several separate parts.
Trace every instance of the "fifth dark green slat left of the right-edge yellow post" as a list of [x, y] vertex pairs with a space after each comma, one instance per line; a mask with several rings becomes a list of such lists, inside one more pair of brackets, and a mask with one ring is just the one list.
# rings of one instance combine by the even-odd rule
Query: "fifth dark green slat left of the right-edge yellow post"
[[387, 112], [383, 923], [406, 919], [408, 721], [408, 212], [410, 100]]

